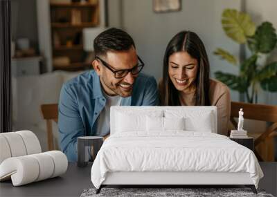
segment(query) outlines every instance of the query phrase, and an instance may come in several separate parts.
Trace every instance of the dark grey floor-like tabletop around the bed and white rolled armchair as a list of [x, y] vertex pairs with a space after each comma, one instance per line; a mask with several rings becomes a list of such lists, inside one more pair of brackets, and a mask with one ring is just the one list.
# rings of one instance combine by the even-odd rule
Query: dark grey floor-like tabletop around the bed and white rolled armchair
[[[277, 195], [277, 162], [260, 162], [265, 177], [260, 180], [259, 189]], [[0, 182], [0, 196], [80, 196], [82, 191], [92, 188], [91, 163], [87, 167], [77, 167], [69, 163], [62, 176], [13, 187], [12, 182]]]

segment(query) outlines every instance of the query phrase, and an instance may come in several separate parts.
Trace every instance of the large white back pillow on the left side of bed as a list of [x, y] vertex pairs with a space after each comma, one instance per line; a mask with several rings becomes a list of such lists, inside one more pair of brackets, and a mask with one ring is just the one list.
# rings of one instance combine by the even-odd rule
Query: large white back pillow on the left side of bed
[[118, 111], [116, 113], [116, 132], [146, 131], [146, 118], [148, 116], [162, 117], [163, 111], [145, 111], [145, 113]]

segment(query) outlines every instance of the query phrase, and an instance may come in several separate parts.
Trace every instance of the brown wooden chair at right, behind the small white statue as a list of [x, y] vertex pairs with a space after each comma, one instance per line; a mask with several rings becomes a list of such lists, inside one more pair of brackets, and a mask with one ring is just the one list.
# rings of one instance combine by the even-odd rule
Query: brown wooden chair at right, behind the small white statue
[[[271, 141], [273, 141], [273, 138], [277, 136], [277, 106], [265, 104], [249, 104], [244, 102], [231, 102], [231, 122], [233, 123], [233, 126], [235, 126], [235, 129], [237, 129], [238, 123], [235, 121], [234, 118], [238, 118], [238, 111], [240, 111], [241, 108], [244, 111], [245, 119], [261, 120], [271, 123], [271, 125], [266, 129], [266, 131], [262, 132], [258, 136], [258, 138], [254, 140], [254, 152], [258, 160], [265, 160], [265, 156], [262, 157], [260, 153], [258, 153], [257, 147], [262, 143], [265, 143], [265, 146], [267, 146], [267, 140], [271, 138]], [[270, 149], [266, 149], [266, 151], [269, 151], [269, 160], [274, 161], [274, 144], [271, 145]]]

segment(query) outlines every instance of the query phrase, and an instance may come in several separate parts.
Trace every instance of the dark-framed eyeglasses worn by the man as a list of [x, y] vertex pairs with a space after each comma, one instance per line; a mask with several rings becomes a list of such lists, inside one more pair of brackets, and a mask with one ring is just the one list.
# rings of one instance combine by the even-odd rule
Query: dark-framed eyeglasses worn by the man
[[130, 72], [132, 75], [137, 75], [139, 74], [139, 72], [141, 72], [141, 70], [143, 69], [144, 63], [141, 60], [141, 58], [139, 56], [137, 56], [139, 59], [139, 64], [134, 66], [131, 69], [125, 69], [125, 70], [118, 70], [118, 71], [114, 71], [112, 68], [113, 66], [109, 65], [107, 62], [105, 62], [103, 59], [101, 59], [100, 57], [96, 56], [96, 59], [99, 59], [100, 62], [102, 63], [103, 66], [105, 66], [106, 68], [109, 69], [109, 71], [111, 71], [112, 73], [114, 73], [114, 77], [116, 77], [116, 79], [121, 79], [123, 77], [126, 77], [128, 75], [128, 73]]

